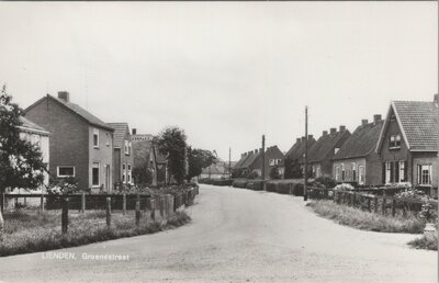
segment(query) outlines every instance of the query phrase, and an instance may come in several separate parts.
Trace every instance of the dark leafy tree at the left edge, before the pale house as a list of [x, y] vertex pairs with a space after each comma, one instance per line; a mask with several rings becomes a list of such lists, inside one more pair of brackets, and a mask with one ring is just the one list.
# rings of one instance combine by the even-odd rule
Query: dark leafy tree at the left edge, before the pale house
[[[22, 114], [23, 110], [12, 103], [3, 86], [0, 93], [0, 193], [7, 188], [36, 189], [47, 171], [40, 147], [20, 138]], [[0, 212], [0, 231], [3, 224]]]

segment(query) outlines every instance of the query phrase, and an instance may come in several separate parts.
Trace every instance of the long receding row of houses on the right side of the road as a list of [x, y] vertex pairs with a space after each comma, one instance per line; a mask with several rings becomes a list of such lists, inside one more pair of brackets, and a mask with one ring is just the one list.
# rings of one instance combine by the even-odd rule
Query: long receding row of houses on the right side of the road
[[[438, 94], [432, 101], [392, 101], [385, 118], [376, 114], [371, 122], [362, 120], [353, 133], [341, 125], [324, 131], [317, 140], [313, 135], [301, 137], [284, 156], [279, 148], [275, 154], [269, 148], [268, 170], [271, 165], [278, 166], [285, 177], [292, 162], [303, 170], [307, 144], [309, 173], [315, 178], [327, 176], [338, 182], [361, 185], [409, 182], [437, 188], [438, 116]], [[245, 171], [244, 174], [260, 170], [260, 165], [254, 161], [260, 154], [258, 150], [243, 154], [235, 169]], [[279, 163], [273, 161], [278, 157]]]

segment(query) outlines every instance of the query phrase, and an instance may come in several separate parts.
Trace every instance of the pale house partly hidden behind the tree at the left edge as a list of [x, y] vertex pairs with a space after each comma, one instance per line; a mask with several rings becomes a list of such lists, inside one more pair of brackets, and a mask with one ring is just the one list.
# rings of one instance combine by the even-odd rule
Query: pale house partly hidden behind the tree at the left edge
[[[27, 118], [21, 116], [20, 122], [22, 123], [20, 128], [20, 138], [31, 142], [32, 144], [36, 144], [40, 147], [42, 152], [43, 162], [47, 165], [49, 163], [49, 135], [45, 128], [32, 123]], [[44, 183], [48, 184], [48, 174], [44, 172]]]

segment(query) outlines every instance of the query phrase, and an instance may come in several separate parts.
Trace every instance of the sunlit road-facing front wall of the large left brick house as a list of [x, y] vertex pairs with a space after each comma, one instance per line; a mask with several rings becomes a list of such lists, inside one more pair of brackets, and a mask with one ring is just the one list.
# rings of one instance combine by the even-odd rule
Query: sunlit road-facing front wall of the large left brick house
[[[99, 148], [93, 146], [93, 133], [94, 129], [99, 132]], [[95, 126], [89, 126], [89, 183], [88, 188], [92, 191], [100, 191], [103, 185], [104, 192], [111, 192], [113, 188], [113, 133], [99, 128]], [[99, 185], [92, 184], [92, 166], [93, 162], [99, 162]], [[109, 168], [109, 169], [108, 169]]]

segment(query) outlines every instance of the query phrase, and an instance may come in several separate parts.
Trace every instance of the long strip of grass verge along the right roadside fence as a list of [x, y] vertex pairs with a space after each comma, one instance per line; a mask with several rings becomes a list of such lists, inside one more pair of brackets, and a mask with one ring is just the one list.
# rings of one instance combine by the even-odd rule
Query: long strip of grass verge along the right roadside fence
[[308, 206], [322, 217], [362, 230], [421, 234], [425, 227], [425, 223], [412, 214], [392, 217], [339, 205], [333, 201], [313, 201]]

